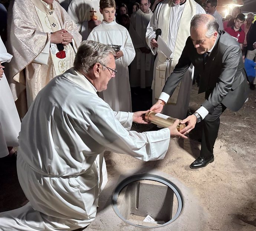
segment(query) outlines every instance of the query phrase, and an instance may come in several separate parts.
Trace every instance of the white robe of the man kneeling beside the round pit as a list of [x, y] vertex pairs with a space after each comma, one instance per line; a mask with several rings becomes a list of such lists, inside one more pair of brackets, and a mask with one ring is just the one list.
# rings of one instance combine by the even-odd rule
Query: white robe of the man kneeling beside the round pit
[[167, 152], [170, 130], [130, 131], [132, 115], [112, 111], [73, 68], [50, 81], [23, 118], [19, 136], [17, 172], [29, 203], [0, 213], [0, 231], [89, 225], [107, 181], [105, 150], [144, 161]]

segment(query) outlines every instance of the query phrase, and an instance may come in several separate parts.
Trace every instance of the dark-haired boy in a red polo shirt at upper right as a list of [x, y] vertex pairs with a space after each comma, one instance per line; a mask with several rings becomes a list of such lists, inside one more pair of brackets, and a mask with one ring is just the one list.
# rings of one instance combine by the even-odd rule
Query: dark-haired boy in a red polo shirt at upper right
[[227, 27], [225, 31], [229, 33], [232, 37], [236, 39], [238, 43], [240, 43], [241, 49], [243, 47], [243, 42], [245, 38], [245, 33], [242, 30], [241, 26], [243, 25], [245, 21], [244, 14], [237, 14], [235, 20], [234, 20], [234, 26]]

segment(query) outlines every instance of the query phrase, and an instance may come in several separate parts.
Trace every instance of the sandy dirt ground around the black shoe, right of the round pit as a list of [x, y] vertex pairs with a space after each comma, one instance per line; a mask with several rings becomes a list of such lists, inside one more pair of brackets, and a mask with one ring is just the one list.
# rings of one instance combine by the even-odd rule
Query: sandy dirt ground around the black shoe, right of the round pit
[[[193, 85], [190, 111], [204, 100]], [[171, 174], [191, 187], [206, 208], [205, 230], [256, 230], [256, 91], [238, 112], [226, 110], [220, 117], [219, 135], [214, 146], [215, 161], [203, 169], [190, 169], [199, 156], [200, 123], [190, 139], [175, 140], [178, 150], [170, 144], [163, 161], [156, 168]], [[180, 148], [180, 149], [179, 149]], [[127, 163], [127, 162], [125, 162]], [[199, 229], [198, 229], [199, 230]]]

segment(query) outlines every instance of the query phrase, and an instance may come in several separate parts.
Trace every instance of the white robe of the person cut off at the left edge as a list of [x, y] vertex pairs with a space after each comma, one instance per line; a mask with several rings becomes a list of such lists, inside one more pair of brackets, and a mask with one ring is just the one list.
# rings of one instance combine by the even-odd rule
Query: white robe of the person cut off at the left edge
[[[7, 53], [0, 37], [0, 62], [10, 62], [12, 55]], [[0, 78], [0, 157], [9, 154], [7, 146], [18, 146], [20, 118], [5, 74]]]

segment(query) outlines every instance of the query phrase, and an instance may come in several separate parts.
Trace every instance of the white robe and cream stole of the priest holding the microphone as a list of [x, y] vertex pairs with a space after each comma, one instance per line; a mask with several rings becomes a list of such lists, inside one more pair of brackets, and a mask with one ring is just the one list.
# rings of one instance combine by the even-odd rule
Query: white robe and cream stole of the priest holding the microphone
[[[146, 33], [147, 44], [151, 47], [152, 53], [156, 54], [157, 52], [152, 82], [153, 104], [160, 98], [166, 79], [178, 63], [186, 40], [190, 36], [190, 21], [195, 14], [205, 14], [205, 11], [194, 0], [165, 0], [159, 3], [154, 11]], [[151, 46], [152, 40], [155, 38], [155, 31], [158, 28], [162, 31], [161, 37], [172, 51], [171, 57], [167, 58], [160, 49], [153, 49]], [[188, 69], [185, 74], [186, 77], [183, 78], [180, 86], [177, 86], [169, 100], [169, 96], [163, 98], [164, 102], [167, 103], [163, 113], [178, 119], [186, 118], [192, 72], [192, 68]]]

